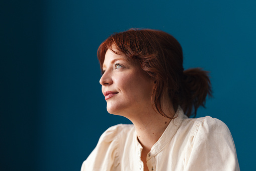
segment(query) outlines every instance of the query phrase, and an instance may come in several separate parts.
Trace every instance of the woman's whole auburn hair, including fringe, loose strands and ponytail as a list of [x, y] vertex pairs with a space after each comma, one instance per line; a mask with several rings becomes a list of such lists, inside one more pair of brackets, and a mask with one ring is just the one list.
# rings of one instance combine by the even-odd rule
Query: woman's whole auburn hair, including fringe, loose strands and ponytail
[[205, 107], [207, 95], [212, 96], [208, 72], [201, 68], [184, 71], [182, 47], [172, 35], [151, 29], [130, 29], [113, 34], [98, 48], [101, 69], [108, 49], [139, 62], [141, 68], [156, 80], [153, 101], [156, 110], [164, 117], [168, 117], [161, 106], [166, 89], [175, 111], [180, 105], [188, 117], [196, 116], [197, 109]]

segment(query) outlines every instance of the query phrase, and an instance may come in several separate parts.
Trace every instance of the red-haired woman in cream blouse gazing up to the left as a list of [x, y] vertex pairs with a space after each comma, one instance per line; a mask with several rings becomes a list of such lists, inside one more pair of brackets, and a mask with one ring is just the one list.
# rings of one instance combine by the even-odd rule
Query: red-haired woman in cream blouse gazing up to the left
[[227, 126], [189, 119], [211, 96], [208, 72], [185, 70], [179, 42], [157, 30], [131, 29], [98, 49], [110, 114], [133, 123], [106, 130], [81, 170], [239, 170]]

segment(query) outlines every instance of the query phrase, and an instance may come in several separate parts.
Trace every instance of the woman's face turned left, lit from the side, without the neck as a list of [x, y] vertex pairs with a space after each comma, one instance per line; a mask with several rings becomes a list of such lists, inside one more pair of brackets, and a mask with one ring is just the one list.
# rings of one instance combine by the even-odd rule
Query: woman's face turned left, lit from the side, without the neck
[[108, 49], [100, 79], [107, 111], [128, 117], [152, 108], [154, 80], [147, 76], [138, 63]]

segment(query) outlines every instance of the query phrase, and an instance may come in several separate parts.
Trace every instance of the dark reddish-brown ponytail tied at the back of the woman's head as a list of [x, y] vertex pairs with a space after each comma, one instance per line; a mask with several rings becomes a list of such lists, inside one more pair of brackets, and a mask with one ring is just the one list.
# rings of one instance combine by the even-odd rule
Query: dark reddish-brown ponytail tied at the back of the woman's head
[[196, 117], [197, 109], [200, 106], [205, 108], [207, 95], [212, 97], [209, 72], [202, 70], [202, 68], [192, 68], [185, 70], [183, 74], [183, 97], [180, 99], [181, 107], [188, 117], [191, 115]]

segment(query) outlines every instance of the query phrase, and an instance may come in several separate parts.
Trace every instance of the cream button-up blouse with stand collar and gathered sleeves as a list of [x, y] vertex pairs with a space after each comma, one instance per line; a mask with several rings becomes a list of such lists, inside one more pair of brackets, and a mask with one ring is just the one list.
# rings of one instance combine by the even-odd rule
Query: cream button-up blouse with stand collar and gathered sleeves
[[134, 125], [119, 124], [107, 129], [81, 171], [103, 170], [240, 170], [228, 127], [206, 116], [189, 119], [181, 108], [141, 161], [142, 146]]

